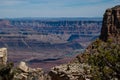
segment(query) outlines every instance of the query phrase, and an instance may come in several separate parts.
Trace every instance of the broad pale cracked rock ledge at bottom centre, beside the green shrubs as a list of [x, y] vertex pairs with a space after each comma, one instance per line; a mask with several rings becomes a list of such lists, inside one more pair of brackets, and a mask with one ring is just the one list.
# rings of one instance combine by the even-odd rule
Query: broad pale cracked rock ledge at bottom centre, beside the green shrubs
[[90, 66], [87, 64], [70, 63], [52, 68], [49, 72], [52, 80], [89, 80]]

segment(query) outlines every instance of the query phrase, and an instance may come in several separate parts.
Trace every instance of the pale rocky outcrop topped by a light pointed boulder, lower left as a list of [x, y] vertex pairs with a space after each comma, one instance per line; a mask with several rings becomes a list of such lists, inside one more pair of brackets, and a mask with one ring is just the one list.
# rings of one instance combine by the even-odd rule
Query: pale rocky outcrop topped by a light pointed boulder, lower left
[[[48, 80], [41, 68], [30, 68], [25, 62], [20, 62], [18, 68], [14, 71], [13, 80]], [[50, 79], [49, 79], [50, 80]]]

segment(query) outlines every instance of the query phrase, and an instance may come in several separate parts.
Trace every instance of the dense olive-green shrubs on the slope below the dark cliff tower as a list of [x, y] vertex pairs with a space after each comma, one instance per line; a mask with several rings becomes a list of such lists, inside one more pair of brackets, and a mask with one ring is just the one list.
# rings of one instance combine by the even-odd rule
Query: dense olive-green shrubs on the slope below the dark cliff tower
[[113, 43], [112, 40], [99, 45], [95, 43], [97, 50], [88, 59], [92, 66], [93, 80], [120, 79], [120, 44]]

